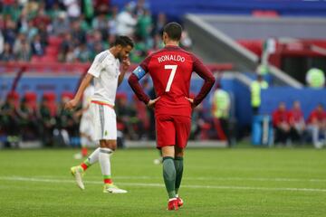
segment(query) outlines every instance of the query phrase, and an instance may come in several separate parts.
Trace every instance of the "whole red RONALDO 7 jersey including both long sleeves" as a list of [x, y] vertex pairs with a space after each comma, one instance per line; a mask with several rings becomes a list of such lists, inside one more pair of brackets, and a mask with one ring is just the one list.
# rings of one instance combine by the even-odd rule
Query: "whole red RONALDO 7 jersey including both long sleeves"
[[193, 71], [205, 80], [203, 87], [194, 99], [194, 104], [198, 105], [213, 87], [215, 78], [195, 55], [177, 46], [166, 46], [149, 55], [130, 75], [129, 85], [138, 98], [147, 104], [149, 96], [141, 89], [138, 80], [149, 73], [156, 95], [160, 97], [155, 104], [156, 115], [190, 117], [191, 104], [185, 97], [189, 97], [190, 78]]

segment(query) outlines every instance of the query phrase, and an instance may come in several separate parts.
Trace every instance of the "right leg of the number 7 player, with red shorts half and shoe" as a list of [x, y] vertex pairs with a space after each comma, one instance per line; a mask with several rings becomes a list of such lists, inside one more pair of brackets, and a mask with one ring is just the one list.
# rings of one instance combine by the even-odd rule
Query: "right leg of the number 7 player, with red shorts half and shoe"
[[178, 206], [183, 205], [183, 200], [179, 197], [178, 191], [181, 185], [183, 170], [184, 170], [184, 153], [187, 146], [187, 140], [190, 135], [191, 119], [189, 117], [178, 116], [174, 117], [176, 126], [176, 146], [175, 146], [175, 160], [176, 167], [176, 194]]

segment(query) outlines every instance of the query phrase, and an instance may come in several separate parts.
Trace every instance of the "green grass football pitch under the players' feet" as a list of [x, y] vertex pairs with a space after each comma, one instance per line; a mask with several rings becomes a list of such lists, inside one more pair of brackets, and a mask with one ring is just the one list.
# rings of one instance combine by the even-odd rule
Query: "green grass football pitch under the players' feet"
[[0, 150], [0, 216], [326, 216], [326, 150], [188, 149], [180, 196], [167, 211], [153, 149], [119, 150], [113, 180], [126, 194], [102, 193], [100, 165], [81, 191], [70, 174], [76, 150]]

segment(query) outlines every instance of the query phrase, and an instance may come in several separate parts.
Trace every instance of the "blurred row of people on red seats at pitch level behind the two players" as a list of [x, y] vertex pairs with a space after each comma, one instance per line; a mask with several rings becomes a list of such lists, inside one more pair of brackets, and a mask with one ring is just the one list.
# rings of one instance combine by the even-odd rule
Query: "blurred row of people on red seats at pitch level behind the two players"
[[[142, 85], [149, 96], [155, 97], [149, 80]], [[58, 103], [53, 92], [43, 93], [40, 100], [34, 92], [25, 92], [24, 96], [9, 92], [0, 106], [0, 142], [5, 146], [18, 146], [21, 141], [41, 141], [43, 146], [79, 146], [82, 105], [73, 111], [64, 109], [72, 97], [72, 92], [63, 92]], [[134, 98], [130, 102], [125, 93], [117, 94], [118, 135], [128, 140], [155, 140], [154, 112]], [[194, 109], [190, 139], [216, 138], [212, 127], [209, 112], [202, 106]]]

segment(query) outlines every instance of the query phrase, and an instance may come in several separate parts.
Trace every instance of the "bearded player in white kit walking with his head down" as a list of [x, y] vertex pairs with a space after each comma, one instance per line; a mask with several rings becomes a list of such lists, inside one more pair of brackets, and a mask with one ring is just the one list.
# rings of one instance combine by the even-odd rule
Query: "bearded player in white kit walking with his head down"
[[[97, 148], [81, 165], [72, 166], [72, 175], [77, 185], [84, 189], [82, 175], [84, 171], [100, 162], [104, 180], [104, 193], [127, 193], [113, 184], [110, 173], [110, 156], [117, 148], [117, 121], [113, 109], [117, 88], [129, 69], [129, 52], [133, 42], [128, 36], [118, 36], [113, 46], [98, 54], [91, 68], [82, 80], [75, 97], [67, 102], [66, 109], [74, 109], [82, 98], [82, 93], [94, 80], [95, 92], [91, 98], [91, 116], [94, 127], [94, 138], [100, 141]], [[120, 67], [120, 61], [122, 62]], [[120, 71], [121, 70], [121, 71]]]

